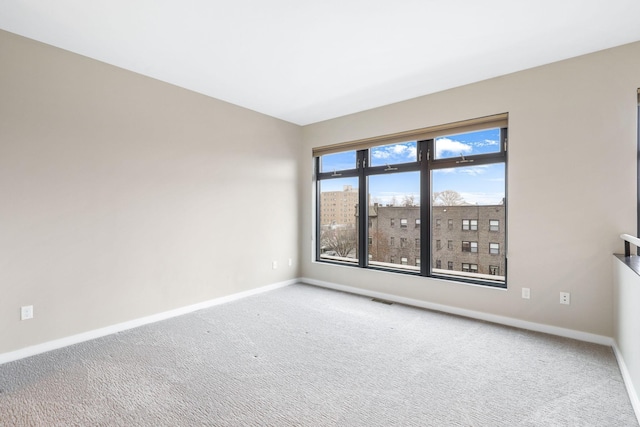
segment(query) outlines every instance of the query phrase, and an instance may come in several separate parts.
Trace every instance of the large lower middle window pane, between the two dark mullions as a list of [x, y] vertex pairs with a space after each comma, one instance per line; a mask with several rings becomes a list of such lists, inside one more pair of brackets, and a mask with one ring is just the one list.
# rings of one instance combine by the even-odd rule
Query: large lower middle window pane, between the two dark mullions
[[368, 180], [373, 241], [369, 265], [420, 271], [420, 247], [409, 244], [420, 238], [420, 227], [408, 226], [420, 218], [420, 173], [374, 175]]

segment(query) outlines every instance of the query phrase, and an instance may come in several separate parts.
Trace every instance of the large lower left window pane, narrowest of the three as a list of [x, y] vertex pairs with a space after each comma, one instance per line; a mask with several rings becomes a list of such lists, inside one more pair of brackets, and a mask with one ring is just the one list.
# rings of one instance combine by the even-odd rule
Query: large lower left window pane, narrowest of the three
[[356, 262], [358, 179], [320, 181], [320, 258]]

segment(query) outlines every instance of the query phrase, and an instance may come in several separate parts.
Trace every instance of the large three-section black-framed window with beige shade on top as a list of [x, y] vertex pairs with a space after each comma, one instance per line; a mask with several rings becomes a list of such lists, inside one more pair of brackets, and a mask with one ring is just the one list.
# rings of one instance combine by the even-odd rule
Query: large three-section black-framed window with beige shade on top
[[[506, 122], [503, 114], [314, 148], [316, 261], [506, 287]], [[443, 240], [455, 262], [440, 259]], [[487, 274], [489, 255], [496, 274]]]

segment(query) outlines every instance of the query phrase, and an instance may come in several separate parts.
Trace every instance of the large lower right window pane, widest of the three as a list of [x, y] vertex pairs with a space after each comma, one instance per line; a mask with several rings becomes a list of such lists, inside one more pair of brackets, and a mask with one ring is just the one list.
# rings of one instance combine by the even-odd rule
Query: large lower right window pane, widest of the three
[[[504, 163], [434, 170], [432, 272], [447, 276], [504, 282]], [[453, 227], [438, 227], [438, 223]], [[447, 251], [438, 251], [438, 241]], [[449, 245], [449, 241], [452, 245]], [[436, 257], [451, 271], [433, 268]], [[446, 264], [445, 264], [446, 263]]]

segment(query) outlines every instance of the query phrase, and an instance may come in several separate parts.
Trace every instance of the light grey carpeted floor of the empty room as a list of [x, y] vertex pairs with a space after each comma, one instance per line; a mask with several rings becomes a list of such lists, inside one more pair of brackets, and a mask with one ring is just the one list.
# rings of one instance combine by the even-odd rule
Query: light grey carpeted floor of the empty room
[[0, 366], [2, 426], [638, 426], [610, 348], [294, 285]]

